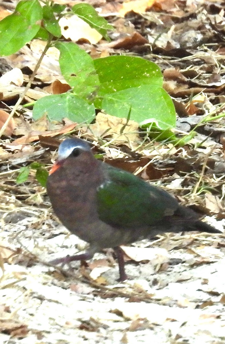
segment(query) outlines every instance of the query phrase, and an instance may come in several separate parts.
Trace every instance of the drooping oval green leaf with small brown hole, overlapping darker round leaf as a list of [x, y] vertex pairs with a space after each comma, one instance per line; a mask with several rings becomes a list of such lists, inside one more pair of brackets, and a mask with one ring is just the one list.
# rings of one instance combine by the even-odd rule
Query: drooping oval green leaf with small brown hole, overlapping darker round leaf
[[91, 56], [72, 42], [59, 42], [56, 47], [60, 51], [62, 75], [72, 87], [73, 93], [80, 97], [89, 97], [95, 93], [99, 80]]

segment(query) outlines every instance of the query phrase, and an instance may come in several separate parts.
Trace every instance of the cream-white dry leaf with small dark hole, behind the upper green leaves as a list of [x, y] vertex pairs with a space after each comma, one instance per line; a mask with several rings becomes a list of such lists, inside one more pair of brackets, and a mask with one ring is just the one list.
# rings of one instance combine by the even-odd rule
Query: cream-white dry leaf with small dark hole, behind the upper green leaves
[[92, 29], [89, 24], [77, 17], [75, 14], [70, 17], [63, 17], [59, 20], [62, 35], [66, 39], [71, 39], [72, 42], [77, 42], [79, 39], [86, 39], [92, 44], [96, 44], [102, 38], [102, 35], [95, 29]]

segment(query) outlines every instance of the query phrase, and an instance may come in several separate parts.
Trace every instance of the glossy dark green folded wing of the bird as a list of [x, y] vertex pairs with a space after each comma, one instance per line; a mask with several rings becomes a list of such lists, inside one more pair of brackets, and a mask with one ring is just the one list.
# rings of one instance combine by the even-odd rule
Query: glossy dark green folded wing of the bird
[[106, 181], [97, 190], [100, 220], [120, 228], [141, 228], [173, 215], [176, 199], [126, 171], [106, 167]]

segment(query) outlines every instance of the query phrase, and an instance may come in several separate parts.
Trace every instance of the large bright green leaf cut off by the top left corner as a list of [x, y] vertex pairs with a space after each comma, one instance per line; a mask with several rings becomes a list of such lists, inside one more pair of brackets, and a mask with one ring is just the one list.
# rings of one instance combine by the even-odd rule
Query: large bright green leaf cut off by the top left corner
[[15, 12], [0, 21], [0, 54], [13, 54], [31, 41], [40, 29], [41, 20], [38, 0], [20, 1]]

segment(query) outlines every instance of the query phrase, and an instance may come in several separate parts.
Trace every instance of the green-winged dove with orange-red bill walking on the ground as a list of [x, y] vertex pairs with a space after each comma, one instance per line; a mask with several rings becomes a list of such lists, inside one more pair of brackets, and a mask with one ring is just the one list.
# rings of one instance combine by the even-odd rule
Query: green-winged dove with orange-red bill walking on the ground
[[89, 260], [96, 252], [113, 248], [120, 281], [127, 279], [121, 245], [162, 233], [222, 233], [161, 187], [96, 159], [88, 142], [77, 137], [60, 143], [47, 193], [61, 223], [89, 243], [85, 253], [51, 263]]

